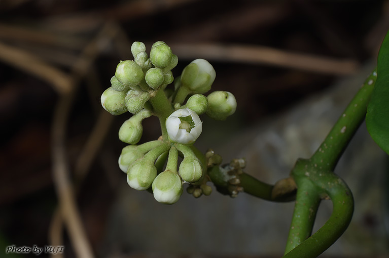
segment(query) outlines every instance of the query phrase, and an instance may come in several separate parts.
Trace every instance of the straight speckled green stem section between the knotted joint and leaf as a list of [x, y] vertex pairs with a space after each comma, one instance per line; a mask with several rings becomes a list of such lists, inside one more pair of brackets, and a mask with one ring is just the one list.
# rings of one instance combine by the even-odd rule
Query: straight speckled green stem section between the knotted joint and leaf
[[311, 157], [311, 163], [324, 171], [333, 171], [348, 142], [365, 119], [367, 104], [377, 79], [377, 68], [348, 104], [322, 145]]

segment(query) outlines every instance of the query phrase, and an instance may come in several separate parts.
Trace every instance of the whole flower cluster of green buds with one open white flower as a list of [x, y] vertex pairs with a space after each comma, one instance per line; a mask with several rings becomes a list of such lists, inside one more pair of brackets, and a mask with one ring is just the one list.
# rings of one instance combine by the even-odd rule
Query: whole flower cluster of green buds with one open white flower
[[[129, 144], [118, 161], [128, 185], [152, 190], [154, 198], [166, 204], [179, 200], [184, 183], [210, 194], [205, 157], [193, 147], [202, 132], [199, 115], [224, 120], [235, 112], [235, 97], [223, 91], [203, 95], [216, 78], [214, 67], [204, 59], [191, 62], [174, 80], [171, 69], [178, 58], [163, 41], [155, 42], [150, 55], [143, 42], [134, 42], [131, 53], [134, 60], [120, 61], [111, 87], [101, 95], [102, 107], [111, 114], [133, 114], [119, 129], [119, 139]], [[162, 136], [137, 145], [142, 121], [152, 115], [160, 120]]]

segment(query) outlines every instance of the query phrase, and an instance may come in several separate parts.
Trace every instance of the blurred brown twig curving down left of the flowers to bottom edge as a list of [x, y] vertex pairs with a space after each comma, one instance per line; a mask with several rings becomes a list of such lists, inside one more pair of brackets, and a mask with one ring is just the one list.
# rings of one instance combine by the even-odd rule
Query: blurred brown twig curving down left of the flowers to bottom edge
[[[88, 68], [94, 62], [98, 54], [107, 47], [110, 39], [115, 36], [116, 30], [110, 23], [106, 23], [98, 35], [84, 48], [79, 61], [74, 65], [72, 74], [74, 78], [74, 87], [68, 94], [62, 95], [54, 113], [52, 127], [52, 152], [53, 152], [53, 177], [57, 190], [61, 216], [68, 229], [70, 240], [74, 245], [78, 257], [93, 257], [92, 248], [87, 240], [86, 233], [77, 210], [74, 189], [69, 180], [69, 168], [66, 162], [65, 153], [65, 131], [69, 110], [72, 107], [72, 101], [76, 85], [83, 78]], [[61, 240], [58, 234], [61, 234], [61, 227], [56, 214], [50, 229], [51, 241]]]

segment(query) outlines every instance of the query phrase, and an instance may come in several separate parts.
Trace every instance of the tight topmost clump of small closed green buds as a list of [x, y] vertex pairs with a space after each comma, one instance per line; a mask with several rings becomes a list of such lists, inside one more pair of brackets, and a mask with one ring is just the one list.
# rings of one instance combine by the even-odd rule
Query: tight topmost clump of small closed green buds
[[113, 115], [126, 111], [136, 114], [145, 104], [173, 82], [173, 69], [178, 58], [163, 41], [157, 41], [146, 53], [143, 42], [134, 42], [131, 46], [134, 60], [120, 61], [115, 76], [111, 78], [111, 87], [101, 95], [101, 105]]

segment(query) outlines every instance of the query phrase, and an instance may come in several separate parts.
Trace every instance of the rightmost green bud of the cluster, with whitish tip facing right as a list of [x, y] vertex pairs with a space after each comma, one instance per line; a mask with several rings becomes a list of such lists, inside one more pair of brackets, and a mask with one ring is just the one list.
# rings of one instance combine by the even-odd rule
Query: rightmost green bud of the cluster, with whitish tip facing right
[[217, 91], [208, 95], [206, 114], [217, 120], [225, 120], [235, 113], [236, 99], [230, 92]]

